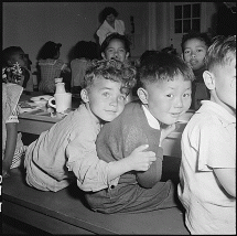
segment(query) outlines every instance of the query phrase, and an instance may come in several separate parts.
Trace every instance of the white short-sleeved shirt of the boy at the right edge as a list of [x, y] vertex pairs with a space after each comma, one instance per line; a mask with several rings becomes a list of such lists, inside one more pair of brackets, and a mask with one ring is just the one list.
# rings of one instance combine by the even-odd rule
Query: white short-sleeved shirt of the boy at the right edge
[[236, 169], [236, 117], [211, 100], [182, 135], [179, 197], [191, 234], [236, 234], [236, 197], [227, 195], [215, 168]]

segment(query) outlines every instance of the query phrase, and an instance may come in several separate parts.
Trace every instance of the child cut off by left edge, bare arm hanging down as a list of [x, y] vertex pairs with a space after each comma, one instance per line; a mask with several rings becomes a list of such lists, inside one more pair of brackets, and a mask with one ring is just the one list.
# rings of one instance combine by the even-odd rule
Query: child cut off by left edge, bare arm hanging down
[[23, 92], [22, 69], [19, 64], [2, 71], [2, 176], [10, 176], [10, 169], [20, 167], [25, 148], [18, 132], [18, 101]]

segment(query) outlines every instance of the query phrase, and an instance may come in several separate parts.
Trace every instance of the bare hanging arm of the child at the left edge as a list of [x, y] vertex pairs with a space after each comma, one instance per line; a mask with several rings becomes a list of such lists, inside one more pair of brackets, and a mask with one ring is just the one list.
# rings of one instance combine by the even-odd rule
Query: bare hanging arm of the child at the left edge
[[8, 122], [7, 126], [7, 141], [4, 159], [2, 161], [2, 175], [9, 176], [10, 167], [15, 151], [17, 138], [18, 138], [18, 124]]

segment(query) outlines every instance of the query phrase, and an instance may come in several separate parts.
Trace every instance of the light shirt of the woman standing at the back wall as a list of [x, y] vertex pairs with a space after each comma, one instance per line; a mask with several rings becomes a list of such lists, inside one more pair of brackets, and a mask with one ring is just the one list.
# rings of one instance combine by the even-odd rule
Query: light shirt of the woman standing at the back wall
[[119, 33], [125, 35], [125, 22], [122, 20], [115, 20], [115, 28], [112, 28], [106, 20], [103, 22], [100, 28], [97, 30], [99, 36], [99, 44], [101, 45], [104, 40], [111, 33]]

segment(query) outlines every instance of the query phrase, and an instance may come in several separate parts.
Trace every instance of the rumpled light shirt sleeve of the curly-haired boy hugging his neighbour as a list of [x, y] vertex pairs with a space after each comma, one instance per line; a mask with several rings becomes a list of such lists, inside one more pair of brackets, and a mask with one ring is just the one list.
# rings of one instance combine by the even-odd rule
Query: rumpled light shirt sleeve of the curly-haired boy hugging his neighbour
[[83, 191], [96, 192], [118, 184], [118, 179], [108, 181], [109, 164], [97, 157], [96, 136], [91, 129], [87, 129], [86, 135], [82, 131], [75, 133], [74, 140], [66, 148], [66, 165], [76, 175], [77, 185]]

